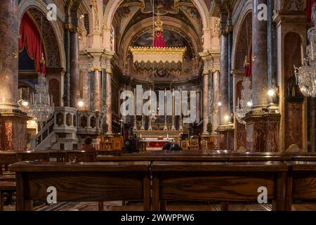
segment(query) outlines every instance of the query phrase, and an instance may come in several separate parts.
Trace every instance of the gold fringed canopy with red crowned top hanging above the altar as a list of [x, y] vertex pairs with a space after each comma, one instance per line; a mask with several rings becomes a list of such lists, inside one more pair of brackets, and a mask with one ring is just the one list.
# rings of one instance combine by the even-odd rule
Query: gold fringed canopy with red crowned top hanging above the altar
[[154, 41], [152, 46], [133, 47], [129, 50], [133, 55], [133, 64], [136, 71], [140, 70], [182, 70], [183, 56], [186, 47], [167, 47], [164, 41], [163, 22], [160, 14], [154, 23]]

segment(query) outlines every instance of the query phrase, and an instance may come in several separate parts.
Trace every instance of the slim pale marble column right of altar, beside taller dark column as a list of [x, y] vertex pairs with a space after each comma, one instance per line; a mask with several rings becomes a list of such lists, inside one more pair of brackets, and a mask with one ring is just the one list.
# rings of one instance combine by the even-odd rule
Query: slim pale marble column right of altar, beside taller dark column
[[212, 120], [212, 133], [216, 133], [216, 129], [220, 124], [220, 107], [218, 103], [220, 102], [220, 73], [218, 70], [213, 72], [213, 120]]

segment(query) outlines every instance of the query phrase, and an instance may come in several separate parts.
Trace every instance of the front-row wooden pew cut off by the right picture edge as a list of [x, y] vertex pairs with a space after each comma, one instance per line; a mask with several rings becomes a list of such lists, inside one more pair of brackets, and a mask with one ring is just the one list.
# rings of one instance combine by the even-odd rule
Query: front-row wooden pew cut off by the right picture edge
[[291, 161], [288, 162], [287, 176], [287, 210], [291, 211], [292, 204], [316, 202], [316, 162]]

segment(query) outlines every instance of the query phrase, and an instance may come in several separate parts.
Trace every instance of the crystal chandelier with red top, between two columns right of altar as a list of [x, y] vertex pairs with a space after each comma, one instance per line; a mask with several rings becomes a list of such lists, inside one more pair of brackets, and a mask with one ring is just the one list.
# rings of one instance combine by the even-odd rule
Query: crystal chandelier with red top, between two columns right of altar
[[243, 118], [246, 116], [246, 113], [249, 113], [252, 106], [252, 89], [251, 89], [251, 74], [249, 73], [249, 65], [247, 58], [245, 58], [244, 69], [245, 76], [242, 79], [242, 99], [237, 99], [237, 107], [235, 116], [239, 123], [246, 124]]

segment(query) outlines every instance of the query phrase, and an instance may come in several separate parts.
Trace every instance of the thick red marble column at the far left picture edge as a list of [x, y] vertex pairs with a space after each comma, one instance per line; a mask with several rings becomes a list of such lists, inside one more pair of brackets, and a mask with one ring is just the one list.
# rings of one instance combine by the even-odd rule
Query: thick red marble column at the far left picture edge
[[0, 1], [0, 108], [18, 108], [18, 0]]

